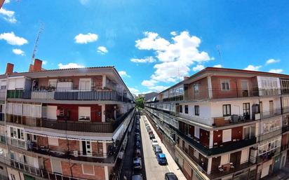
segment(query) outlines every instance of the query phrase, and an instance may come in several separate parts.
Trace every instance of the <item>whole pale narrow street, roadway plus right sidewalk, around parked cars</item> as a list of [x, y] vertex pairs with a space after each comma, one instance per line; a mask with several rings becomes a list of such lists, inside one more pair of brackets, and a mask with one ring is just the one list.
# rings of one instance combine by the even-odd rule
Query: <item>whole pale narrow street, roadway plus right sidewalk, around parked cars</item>
[[166, 154], [166, 158], [168, 160], [168, 165], [159, 165], [158, 161], [156, 160], [156, 155], [154, 154], [153, 148], [152, 148], [152, 142], [149, 139], [149, 134], [147, 132], [147, 129], [145, 127], [145, 120], [147, 120], [146, 116], [141, 116], [140, 118], [140, 129], [141, 129], [141, 136], [142, 136], [142, 149], [145, 159], [145, 173], [148, 180], [162, 180], [165, 178], [166, 172], [174, 172], [177, 175], [177, 178], [179, 180], [185, 180], [184, 175], [182, 174], [181, 170], [171, 157], [170, 153], [168, 153], [168, 150], [166, 147], [161, 143], [161, 139], [157, 136], [154, 128], [149, 123], [149, 120], [147, 120], [147, 123], [149, 123], [152, 131], [154, 132], [154, 135], [156, 137], [156, 140], [159, 142], [159, 146], [161, 146], [161, 149], [163, 150], [163, 153]]

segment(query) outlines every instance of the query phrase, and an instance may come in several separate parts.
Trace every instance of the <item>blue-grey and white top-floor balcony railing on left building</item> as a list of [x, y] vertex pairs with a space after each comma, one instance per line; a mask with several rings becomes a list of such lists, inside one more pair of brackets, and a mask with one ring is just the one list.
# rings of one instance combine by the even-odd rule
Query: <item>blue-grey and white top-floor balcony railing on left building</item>
[[8, 90], [7, 98], [55, 99], [55, 100], [95, 100], [130, 102], [125, 95], [114, 90]]

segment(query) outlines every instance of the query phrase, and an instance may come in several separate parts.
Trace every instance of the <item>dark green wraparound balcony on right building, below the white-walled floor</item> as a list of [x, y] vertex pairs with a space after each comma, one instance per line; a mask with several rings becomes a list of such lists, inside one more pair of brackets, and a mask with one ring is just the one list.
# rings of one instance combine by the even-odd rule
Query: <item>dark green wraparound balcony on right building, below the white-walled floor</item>
[[252, 137], [251, 139], [231, 141], [231, 143], [228, 144], [227, 146], [217, 146], [217, 147], [214, 146], [212, 148], [209, 148], [208, 146], [202, 145], [200, 141], [198, 141], [197, 139], [193, 139], [192, 137], [189, 137], [183, 132], [181, 132], [180, 130], [177, 130], [175, 127], [170, 126], [170, 128], [172, 128], [180, 137], [188, 141], [189, 144], [191, 144], [194, 148], [197, 148], [199, 151], [201, 151], [202, 153], [206, 155], [217, 155], [217, 154], [225, 153], [228, 151], [234, 151], [238, 148], [251, 146], [256, 143], [256, 137]]

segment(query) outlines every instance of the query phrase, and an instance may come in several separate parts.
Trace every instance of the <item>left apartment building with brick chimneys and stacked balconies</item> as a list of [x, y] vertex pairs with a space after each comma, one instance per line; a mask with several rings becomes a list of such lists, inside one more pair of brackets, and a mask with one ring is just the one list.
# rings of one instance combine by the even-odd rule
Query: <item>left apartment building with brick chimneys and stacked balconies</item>
[[112, 179], [135, 99], [114, 67], [0, 75], [1, 179]]

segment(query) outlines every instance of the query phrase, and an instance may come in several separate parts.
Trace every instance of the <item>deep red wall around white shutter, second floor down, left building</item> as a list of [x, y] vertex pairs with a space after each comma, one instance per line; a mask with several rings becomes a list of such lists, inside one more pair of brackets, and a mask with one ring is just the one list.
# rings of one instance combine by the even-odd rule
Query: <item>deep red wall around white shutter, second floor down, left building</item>
[[[65, 116], [67, 116], [67, 111], [69, 111], [69, 119], [68, 120], [79, 120], [79, 106], [74, 104], [48, 104], [50, 106], [58, 106], [58, 109], [64, 109]], [[90, 118], [91, 122], [101, 122], [101, 106], [98, 104], [81, 104], [81, 106], [90, 106]], [[58, 116], [58, 120], [65, 120], [65, 117]]]

